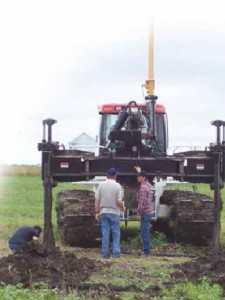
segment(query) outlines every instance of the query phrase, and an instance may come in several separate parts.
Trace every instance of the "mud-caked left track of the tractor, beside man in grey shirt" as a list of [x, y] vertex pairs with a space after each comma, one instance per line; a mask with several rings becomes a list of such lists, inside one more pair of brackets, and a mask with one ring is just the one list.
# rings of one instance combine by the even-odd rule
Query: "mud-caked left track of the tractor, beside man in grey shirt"
[[92, 248], [100, 243], [100, 226], [95, 220], [94, 193], [64, 190], [57, 194], [57, 225], [63, 244]]

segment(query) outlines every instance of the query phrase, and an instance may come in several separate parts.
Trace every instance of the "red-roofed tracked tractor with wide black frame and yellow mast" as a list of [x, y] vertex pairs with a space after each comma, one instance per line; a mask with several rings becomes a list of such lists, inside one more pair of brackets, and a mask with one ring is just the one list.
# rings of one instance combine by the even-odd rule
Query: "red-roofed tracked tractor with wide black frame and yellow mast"
[[[150, 59], [153, 50], [150, 47]], [[53, 119], [43, 121], [44, 134], [38, 149], [42, 151], [42, 179], [45, 199], [44, 240], [51, 243], [52, 187], [57, 182], [91, 181], [97, 186], [110, 167], [118, 169], [118, 180], [124, 188], [127, 223], [136, 213], [135, 166], [144, 169], [153, 184], [156, 228], [165, 228], [177, 241], [201, 243], [215, 233], [215, 205], [224, 181], [225, 122], [212, 122], [217, 128], [217, 142], [204, 151], [167, 155], [168, 125], [163, 105], [156, 104], [153, 64], [150, 64], [147, 96], [144, 103], [105, 104], [99, 109], [99, 145], [91, 152], [67, 150], [52, 141]], [[46, 126], [48, 136], [46, 138]], [[223, 129], [221, 141], [220, 130]], [[167, 178], [177, 182], [209, 183], [215, 189], [215, 201], [193, 192], [167, 191]], [[217, 210], [218, 211], [218, 210]], [[94, 218], [94, 192], [62, 191], [57, 200], [57, 222], [62, 241], [72, 246], [90, 246], [100, 238]]]

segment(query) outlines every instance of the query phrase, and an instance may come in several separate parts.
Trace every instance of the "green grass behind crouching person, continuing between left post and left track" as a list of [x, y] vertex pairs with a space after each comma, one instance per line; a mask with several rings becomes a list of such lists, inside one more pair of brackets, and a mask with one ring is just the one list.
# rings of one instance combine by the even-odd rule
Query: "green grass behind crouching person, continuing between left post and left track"
[[[89, 186], [79, 186], [85, 189]], [[55, 197], [63, 189], [74, 189], [72, 183], [59, 183], [53, 188], [53, 229], [56, 230]], [[1, 177], [0, 188], [0, 239], [7, 239], [21, 225], [43, 227], [44, 190], [40, 176], [7, 175]]]

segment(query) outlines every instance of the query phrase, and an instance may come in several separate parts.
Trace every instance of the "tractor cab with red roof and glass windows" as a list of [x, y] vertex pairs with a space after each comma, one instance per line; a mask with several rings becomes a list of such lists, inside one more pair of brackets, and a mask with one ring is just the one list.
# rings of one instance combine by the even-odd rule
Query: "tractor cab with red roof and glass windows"
[[105, 104], [99, 109], [100, 156], [144, 157], [166, 155], [167, 115], [162, 105], [155, 107], [155, 133], [152, 116], [145, 104]]

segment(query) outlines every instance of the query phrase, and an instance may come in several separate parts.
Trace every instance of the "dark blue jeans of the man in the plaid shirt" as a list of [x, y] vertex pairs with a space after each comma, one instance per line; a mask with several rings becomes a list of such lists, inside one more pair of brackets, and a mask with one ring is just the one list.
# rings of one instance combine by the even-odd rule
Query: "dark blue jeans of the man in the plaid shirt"
[[142, 213], [141, 214], [141, 242], [142, 250], [144, 254], [149, 255], [151, 252], [151, 239], [150, 239], [150, 223], [151, 223], [151, 214]]

